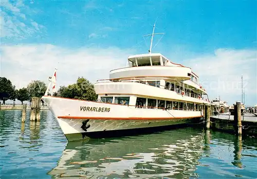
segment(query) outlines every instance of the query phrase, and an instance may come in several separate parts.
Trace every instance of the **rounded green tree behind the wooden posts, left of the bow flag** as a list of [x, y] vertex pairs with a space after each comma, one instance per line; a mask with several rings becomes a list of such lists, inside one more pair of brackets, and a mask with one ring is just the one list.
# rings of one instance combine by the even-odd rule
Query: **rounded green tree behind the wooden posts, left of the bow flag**
[[46, 91], [46, 84], [43, 81], [35, 80], [28, 84], [27, 90], [29, 93], [29, 99], [32, 97], [42, 97]]

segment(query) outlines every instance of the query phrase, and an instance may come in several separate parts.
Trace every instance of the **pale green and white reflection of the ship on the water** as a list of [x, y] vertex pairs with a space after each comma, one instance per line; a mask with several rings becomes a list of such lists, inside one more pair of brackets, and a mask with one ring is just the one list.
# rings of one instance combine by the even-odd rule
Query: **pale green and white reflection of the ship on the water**
[[192, 129], [68, 142], [58, 165], [48, 174], [62, 178], [196, 177], [203, 143], [203, 134]]

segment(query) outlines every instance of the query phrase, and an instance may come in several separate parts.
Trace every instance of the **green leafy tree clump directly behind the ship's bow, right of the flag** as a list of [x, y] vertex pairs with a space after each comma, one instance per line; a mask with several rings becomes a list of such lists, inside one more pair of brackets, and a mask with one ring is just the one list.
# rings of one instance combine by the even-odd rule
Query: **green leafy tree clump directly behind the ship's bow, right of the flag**
[[88, 101], [96, 101], [97, 94], [94, 85], [83, 77], [79, 77], [77, 83], [66, 86], [60, 86], [57, 94], [64, 98], [83, 99]]

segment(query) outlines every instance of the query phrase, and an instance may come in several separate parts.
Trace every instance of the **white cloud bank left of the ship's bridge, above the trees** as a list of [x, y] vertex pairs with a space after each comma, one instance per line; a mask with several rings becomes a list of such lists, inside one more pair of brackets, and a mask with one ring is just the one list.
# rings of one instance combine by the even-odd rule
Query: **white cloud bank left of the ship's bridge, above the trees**
[[31, 80], [47, 83], [54, 68], [57, 86], [75, 83], [79, 76], [91, 82], [108, 79], [109, 70], [124, 67], [134, 52], [117, 47], [82, 47], [68, 49], [51, 44], [2, 46], [2, 74], [16, 88], [27, 86]]

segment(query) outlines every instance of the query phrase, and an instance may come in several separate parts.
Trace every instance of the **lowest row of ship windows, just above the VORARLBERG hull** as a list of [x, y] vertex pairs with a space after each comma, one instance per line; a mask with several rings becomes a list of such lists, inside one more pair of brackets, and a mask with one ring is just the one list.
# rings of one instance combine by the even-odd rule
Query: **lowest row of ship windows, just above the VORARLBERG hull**
[[[101, 97], [102, 102], [113, 103], [113, 97]], [[130, 103], [130, 97], [114, 97], [115, 104], [128, 105]], [[173, 110], [192, 110], [200, 111], [201, 105], [186, 102], [177, 101], [165, 101], [156, 100], [151, 98], [139, 98], [136, 100], [136, 108], [148, 108], [148, 109], [173, 109]]]

